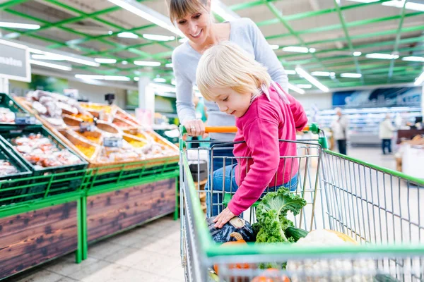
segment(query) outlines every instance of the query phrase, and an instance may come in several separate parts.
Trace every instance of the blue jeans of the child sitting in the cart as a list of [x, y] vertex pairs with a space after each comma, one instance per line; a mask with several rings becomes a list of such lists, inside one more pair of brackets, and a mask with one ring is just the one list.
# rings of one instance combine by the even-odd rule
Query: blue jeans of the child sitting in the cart
[[[216, 171], [213, 171], [213, 187], [212, 191], [210, 188], [209, 183], [206, 183], [205, 190], [206, 190], [206, 212], [207, 215], [211, 216], [217, 216], [222, 211], [222, 203], [223, 203], [223, 186], [225, 187], [224, 191], [229, 192], [231, 194], [234, 194], [235, 191], [238, 189], [238, 185], [235, 181], [235, 166], [237, 164], [232, 164], [230, 166], [225, 166], [225, 174], [224, 169], [219, 168]], [[284, 183], [280, 186], [273, 186], [269, 187], [269, 192], [274, 192], [278, 190], [279, 188], [290, 188], [291, 192], [294, 192], [296, 188], [298, 187], [298, 173], [296, 173], [293, 178], [290, 179], [287, 183]], [[211, 202], [211, 194], [212, 194], [212, 202]], [[261, 197], [264, 197], [264, 194], [261, 195]]]

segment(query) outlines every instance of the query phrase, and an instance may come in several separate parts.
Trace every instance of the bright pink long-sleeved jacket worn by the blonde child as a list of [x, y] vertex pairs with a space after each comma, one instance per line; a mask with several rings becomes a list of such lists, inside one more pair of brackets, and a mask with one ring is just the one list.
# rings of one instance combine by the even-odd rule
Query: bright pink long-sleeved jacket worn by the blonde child
[[228, 203], [235, 215], [251, 207], [268, 185], [282, 185], [298, 173], [298, 159], [280, 159], [297, 156], [296, 144], [278, 140], [296, 140], [296, 130], [305, 127], [307, 116], [298, 100], [290, 94], [285, 95], [290, 104], [286, 104], [271, 86], [271, 102], [262, 94], [252, 102], [245, 115], [235, 119], [234, 141], [245, 142], [235, 144], [234, 156], [251, 157], [248, 161], [237, 159], [235, 177], [239, 188]]

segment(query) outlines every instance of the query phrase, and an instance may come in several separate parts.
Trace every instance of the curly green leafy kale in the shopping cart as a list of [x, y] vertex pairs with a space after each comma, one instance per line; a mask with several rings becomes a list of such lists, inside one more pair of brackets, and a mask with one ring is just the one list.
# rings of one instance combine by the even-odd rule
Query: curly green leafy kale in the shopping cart
[[257, 231], [257, 243], [294, 242], [284, 233], [286, 228], [294, 226], [286, 216], [288, 212], [298, 215], [305, 205], [302, 197], [290, 193], [286, 188], [268, 192], [256, 211], [257, 223], [253, 228]]

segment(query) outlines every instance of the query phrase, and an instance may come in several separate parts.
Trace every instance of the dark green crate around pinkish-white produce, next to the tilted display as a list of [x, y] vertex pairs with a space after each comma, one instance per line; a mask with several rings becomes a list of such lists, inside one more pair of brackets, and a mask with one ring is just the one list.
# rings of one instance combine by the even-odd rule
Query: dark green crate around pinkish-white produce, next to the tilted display
[[[30, 133], [41, 133], [52, 140], [59, 149], [68, 149], [69, 152], [76, 155], [76, 157], [81, 160], [81, 164], [35, 169], [33, 164], [27, 161], [9, 142], [13, 137], [29, 135]], [[34, 200], [45, 197], [45, 195], [57, 195], [64, 192], [73, 192], [81, 188], [83, 177], [85, 176], [84, 169], [88, 165], [87, 161], [79, 157], [78, 154], [73, 152], [72, 149], [67, 147], [46, 128], [15, 128], [14, 130], [9, 130], [7, 133], [1, 133], [0, 141], [4, 142], [6, 147], [11, 149], [18, 159], [20, 159], [20, 161], [33, 171], [33, 176], [51, 176], [48, 181], [43, 181], [40, 185], [31, 185], [28, 187], [25, 194], [29, 196], [23, 198], [23, 200]], [[33, 180], [32, 183], [37, 183], [37, 180]]]

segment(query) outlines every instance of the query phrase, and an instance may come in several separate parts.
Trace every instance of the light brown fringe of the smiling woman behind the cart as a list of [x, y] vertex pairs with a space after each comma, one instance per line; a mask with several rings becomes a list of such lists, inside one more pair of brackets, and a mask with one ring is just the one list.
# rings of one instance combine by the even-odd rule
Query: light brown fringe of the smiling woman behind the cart
[[175, 25], [179, 18], [184, 18], [187, 14], [197, 13], [201, 9], [207, 10], [207, 3], [208, 0], [167, 0], [171, 23]]

